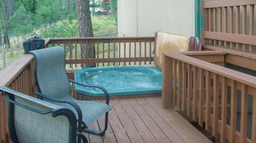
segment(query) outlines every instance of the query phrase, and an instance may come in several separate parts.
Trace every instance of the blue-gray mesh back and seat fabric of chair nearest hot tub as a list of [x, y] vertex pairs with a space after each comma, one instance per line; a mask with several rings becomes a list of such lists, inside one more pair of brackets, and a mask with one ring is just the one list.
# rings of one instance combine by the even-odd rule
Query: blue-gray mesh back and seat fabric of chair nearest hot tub
[[[65, 50], [51, 47], [30, 51], [35, 57], [35, 75], [40, 93], [59, 99], [75, 102], [82, 111], [82, 121], [90, 126], [99, 117], [108, 112], [109, 105], [94, 101], [80, 101], [73, 98], [65, 68]], [[44, 99], [46, 100], [46, 99]], [[49, 101], [49, 100], [47, 100]], [[49, 101], [68, 107], [77, 116], [75, 108], [66, 103]]]

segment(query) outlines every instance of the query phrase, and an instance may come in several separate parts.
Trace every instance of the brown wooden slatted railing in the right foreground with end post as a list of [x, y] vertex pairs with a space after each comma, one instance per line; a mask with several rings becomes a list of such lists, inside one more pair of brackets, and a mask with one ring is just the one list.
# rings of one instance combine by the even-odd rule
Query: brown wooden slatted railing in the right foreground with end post
[[[256, 77], [184, 53], [165, 52], [163, 60], [164, 108], [178, 107], [217, 141], [256, 142]], [[249, 98], [252, 107], [248, 107]]]

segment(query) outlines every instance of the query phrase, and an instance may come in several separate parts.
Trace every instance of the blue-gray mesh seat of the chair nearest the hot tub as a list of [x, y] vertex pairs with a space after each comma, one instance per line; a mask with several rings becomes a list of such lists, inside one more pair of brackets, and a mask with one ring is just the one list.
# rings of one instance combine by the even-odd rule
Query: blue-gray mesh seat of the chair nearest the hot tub
[[[73, 98], [67, 99], [67, 100], [73, 100], [73, 102], [75, 102], [80, 107], [82, 111], [82, 121], [87, 126], [90, 126], [98, 118], [100, 118], [102, 115], [104, 115], [106, 112], [108, 112], [111, 109], [111, 107], [108, 104], [101, 103], [101, 102], [76, 100]], [[52, 102], [52, 101], [49, 101], [49, 102]], [[78, 119], [77, 111], [73, 106], [66, 103], [59, 103], [59, 102], [53, 102], [53, 103], [71, 109], [75, 113], [76, 118]]]

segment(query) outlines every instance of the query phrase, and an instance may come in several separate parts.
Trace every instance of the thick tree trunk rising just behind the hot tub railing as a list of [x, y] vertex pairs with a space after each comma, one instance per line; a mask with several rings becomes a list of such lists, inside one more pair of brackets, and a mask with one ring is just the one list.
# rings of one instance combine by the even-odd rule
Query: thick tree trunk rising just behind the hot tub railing
[[[78, 19], [78, 33], [79, 37], [93, 37], [92, 19], [90, 13], [90, 1], [89, 0], [76, 0], [76, 12]], [[90, 59], [95, 57], [94, 45], [91, 43], [82, 45], [82, 59]], [[90, 54], [92, 53], [93, 55]], [[86, 56], [88, 52], [88, 57]], [[83, 68], [94, 67], [95, 65], [82, 64]]]

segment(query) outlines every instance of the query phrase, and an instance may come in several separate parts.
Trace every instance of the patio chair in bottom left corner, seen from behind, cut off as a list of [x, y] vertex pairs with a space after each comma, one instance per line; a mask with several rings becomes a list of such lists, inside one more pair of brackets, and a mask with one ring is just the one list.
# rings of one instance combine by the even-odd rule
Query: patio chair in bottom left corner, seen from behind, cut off
[[[9, 101], [9, 131], [13, 143], [75, 143], [77, 132], [74, 112], [68, 108], [0, 87], [3, 98]], [[81, 141], [81, 140], [80, 140]]]

